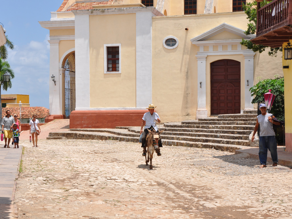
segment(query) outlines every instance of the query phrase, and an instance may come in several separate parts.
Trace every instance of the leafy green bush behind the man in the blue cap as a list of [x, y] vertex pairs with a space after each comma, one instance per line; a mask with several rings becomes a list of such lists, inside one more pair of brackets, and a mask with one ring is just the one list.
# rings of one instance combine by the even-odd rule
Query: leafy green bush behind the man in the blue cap
[[[260, 80], [260, 79], [259, 79]], [[275, 75], [275, 79], [265, 79], [260, 80], [258, 84], [251, 87], [249, 91], [251, 91], [251, 95], [254, 96], [251, 103], [264, 102], [264, 94], [269, 92], [271, 89], [271, 93], [276, 95], [271, 113], [277, 117], [280, 121], [285, 121], [284, 119], [284, 77], [279, 77], [279, 75]]]

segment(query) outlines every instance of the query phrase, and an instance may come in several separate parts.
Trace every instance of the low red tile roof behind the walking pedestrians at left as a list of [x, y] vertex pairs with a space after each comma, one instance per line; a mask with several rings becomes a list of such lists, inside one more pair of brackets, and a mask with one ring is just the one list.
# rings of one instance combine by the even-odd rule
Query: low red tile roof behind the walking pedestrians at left
[[[19, 107], [2, 107], [2, 118], [6, 116], [6, 111], [10, 110], [10, 114], [17, 114], [20, 116], [20, 108]], [[32, 114], [36, 114], [37, 118], [45, 118], [49, 115], [49, 109], [45, 107], [21, 107], [21, 118], [29, 119], [32, 118]]]

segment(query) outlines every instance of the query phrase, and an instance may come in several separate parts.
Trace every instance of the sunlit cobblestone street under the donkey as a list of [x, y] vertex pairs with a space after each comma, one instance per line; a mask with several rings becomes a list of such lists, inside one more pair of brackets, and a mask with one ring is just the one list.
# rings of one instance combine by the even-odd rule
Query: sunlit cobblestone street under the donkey
[[164, 146], [145, 165], [140, 144], [28, 140], [18, 218], [292, 218], [292, 172], [246, 154]]

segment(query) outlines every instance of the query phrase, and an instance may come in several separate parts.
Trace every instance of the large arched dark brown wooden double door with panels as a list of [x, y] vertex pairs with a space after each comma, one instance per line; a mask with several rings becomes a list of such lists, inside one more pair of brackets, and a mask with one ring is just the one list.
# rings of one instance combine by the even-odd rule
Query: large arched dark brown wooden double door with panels
[[211, 63], [211, 115], [240, 113], [240, 62]]

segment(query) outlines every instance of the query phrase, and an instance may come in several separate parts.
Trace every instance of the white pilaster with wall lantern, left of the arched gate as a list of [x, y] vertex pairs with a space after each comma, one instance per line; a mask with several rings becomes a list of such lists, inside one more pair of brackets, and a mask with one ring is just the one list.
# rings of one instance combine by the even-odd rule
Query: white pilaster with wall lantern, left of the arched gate
[[[62, 115], [60, 107], [60, 81], [59, 81], [59, 42], [48, 40], [50, 43], [50, 77], [49, 77], [49, 108], [51, 115]], [[55, 76], [56, 85], [51, 79]], [[61, 92], [62, 93], [62, 92]]]

